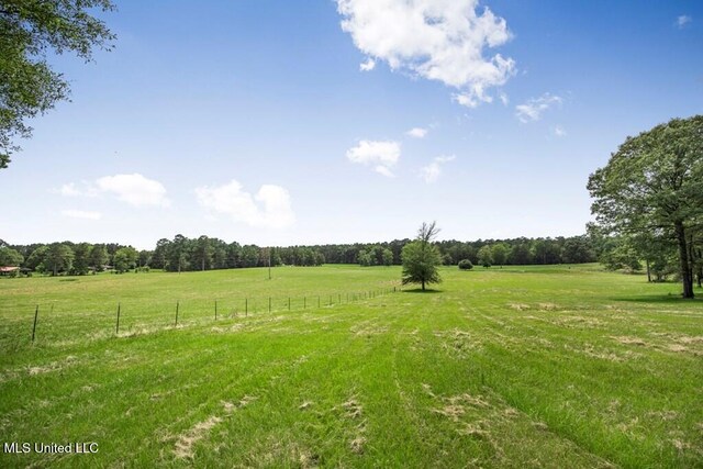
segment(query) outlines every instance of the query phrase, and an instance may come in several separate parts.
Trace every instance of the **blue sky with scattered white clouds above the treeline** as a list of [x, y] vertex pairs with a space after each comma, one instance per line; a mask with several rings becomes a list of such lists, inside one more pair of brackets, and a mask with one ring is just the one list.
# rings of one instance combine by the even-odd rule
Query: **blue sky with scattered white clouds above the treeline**
[[570, 236], [628, 135], [703, 113], [703, 2], [116, 0], [0, 170], [0, 238]]

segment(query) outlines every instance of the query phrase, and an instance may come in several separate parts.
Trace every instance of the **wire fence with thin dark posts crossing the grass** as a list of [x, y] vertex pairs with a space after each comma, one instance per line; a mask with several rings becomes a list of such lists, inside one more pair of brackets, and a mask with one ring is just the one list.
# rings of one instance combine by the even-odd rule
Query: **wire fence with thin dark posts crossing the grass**
[[398, 291], [401, 291], [399, 287], [389, 287], [308, 295], [243, 295], [207, 300], [185, 298], [172, 302], [130, 300], [98, 309], [62, 308], [54, 302], [43, 302], [26, 306], [26, 313], [4, 315], [0, 324], [0, 348], [12, 349], [27, 344], [71, 344], [223, 320], [321, 310], [372, 300]]

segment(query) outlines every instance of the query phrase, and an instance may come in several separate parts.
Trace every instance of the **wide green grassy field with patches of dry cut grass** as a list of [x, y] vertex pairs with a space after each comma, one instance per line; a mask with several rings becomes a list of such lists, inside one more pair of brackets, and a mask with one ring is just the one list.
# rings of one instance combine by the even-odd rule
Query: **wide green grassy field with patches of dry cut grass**
[[702, 301], [596, 266], [443, 277], [1, 279], [0, 444], [98, 453], [0, 467], [703, 467]]

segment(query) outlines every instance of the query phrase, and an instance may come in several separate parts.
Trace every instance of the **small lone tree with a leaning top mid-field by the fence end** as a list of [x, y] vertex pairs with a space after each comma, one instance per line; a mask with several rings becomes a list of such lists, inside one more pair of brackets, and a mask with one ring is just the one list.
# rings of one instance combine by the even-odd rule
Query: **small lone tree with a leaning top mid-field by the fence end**
[[442, 256], [437, 246], [432, 244], [439, 233], [435, 222], [423, 223], [417, 231], [415, 241], [403, 246], [401, 259], [403, 263], [403, 284], [421, 283], [423, 291], [426, 283], [439, 283], [437, 266], [442, 264]]

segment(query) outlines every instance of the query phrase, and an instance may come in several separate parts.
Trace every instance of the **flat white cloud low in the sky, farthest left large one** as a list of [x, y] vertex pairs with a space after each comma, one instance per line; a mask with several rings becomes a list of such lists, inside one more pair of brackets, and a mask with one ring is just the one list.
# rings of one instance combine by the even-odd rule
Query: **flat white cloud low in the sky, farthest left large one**
[[96, 180], [96, 186], [103, 192], [112, 192], [118, 200], [135, 206], [169, 206], [166, 188], [159, 181], [133, 175], [105, 176]]

